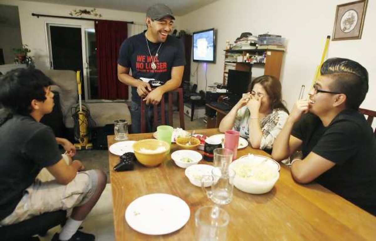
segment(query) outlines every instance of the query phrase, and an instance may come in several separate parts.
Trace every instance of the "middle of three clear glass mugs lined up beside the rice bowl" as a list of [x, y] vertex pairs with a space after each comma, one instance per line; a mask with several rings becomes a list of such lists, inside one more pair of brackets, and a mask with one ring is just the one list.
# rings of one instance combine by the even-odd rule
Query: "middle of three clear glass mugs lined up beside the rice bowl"
[[[220, 167], [214, 167], [211, 176], [203, 176], [201, 187], [204, 193], [212, 202], [217, 205], [226, 205], [232, 201], [233, 179], [235, 171], [228, 169], [227, 172], [221, 172]], [[205, 183], [211, 182], [211, 190], [205, 188]]]

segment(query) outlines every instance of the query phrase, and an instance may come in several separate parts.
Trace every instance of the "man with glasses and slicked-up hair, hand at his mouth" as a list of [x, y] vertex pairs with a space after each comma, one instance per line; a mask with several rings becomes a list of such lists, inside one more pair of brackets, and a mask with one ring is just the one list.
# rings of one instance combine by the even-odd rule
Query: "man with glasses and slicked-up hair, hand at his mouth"
[[[276, 138], [272, 156], [291, 161], [296, 182], [316, 181], [376, 215], [376, 139], [358, 112], [368, 91], [368, 72], [359, 63], [326, 60], [307, 100], [294, 105]], [[329, 201], [329, 200], [328, 200]]]

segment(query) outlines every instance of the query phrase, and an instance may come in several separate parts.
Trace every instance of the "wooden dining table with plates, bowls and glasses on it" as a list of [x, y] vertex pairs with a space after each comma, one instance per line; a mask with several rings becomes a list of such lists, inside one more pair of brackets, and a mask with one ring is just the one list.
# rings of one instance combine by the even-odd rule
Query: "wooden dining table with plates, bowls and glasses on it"
[[[217, 129], [196, 130], [197, 134], [212, 136]], [[129, 134], [129, 140], [152, 139], [152, 133]], [[108, 145], [116, 141], [108, 136]], [[171, 153], [177, 150], [171, 144]], [[250, 146], [238, 150], [246, 154], [270, 157]], [[109, 169], [113, 197], [115, 240], [193, 241], [194, 213], [201, 206], [213, 205], [201, 188], [190, 183], [184, 170], [167, 158], [157, 167], [135, 164], [135, 169], [115, 172], [117, 155], [109, 152]], [[200, 161], [201, 164], [212, 164]], [[124, 213], [136, 198], [151, 193], [167, 193], [180, 197], [190, 207], [191, 215], [181, 229], [167, 235], [146, 235], [133, 230]], [[230, 214], [226, 240], [376, 240], [376, 217], [353, 205], [323, 186], [297, 184], [290, 167], [281, 164], [280, 177], [273, 189], [265, 194], [233, 190], [233, 200], [222, 206]]]

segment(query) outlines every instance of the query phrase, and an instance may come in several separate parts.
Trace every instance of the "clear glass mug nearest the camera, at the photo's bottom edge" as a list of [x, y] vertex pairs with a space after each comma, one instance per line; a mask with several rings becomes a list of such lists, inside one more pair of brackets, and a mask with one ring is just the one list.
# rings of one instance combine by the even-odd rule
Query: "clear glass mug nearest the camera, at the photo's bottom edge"
[[[216, 212], [216, 214], [213, 215], [213, 212]], [[224, 209], [203, 206], [196, 211], [194, 220], [196, 241], [226, 241], [230, 215]]]

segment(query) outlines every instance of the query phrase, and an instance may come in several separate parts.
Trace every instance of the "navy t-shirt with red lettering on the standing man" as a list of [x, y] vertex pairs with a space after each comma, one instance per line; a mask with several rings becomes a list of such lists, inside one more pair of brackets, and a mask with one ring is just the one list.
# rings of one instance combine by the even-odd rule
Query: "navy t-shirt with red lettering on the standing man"
[[[180, 39], [168, 35], [164, 43], [147, 41], [145, 32], [127, 38], [120, 46], [118, 64], [132, 69], [133, 78], [153, 78], [166, 82], [171, 79], [171, 69], [185, 65], [184, 46]], [[161, 47], [159, 48], [159, 45]], [[155, 55], [158, 51], [158, 56]], [[155, 60], [156, 69], [152, 69], [152, 60]], [[139, 102], [137, 88], [132, 87], [132, 101]]]

